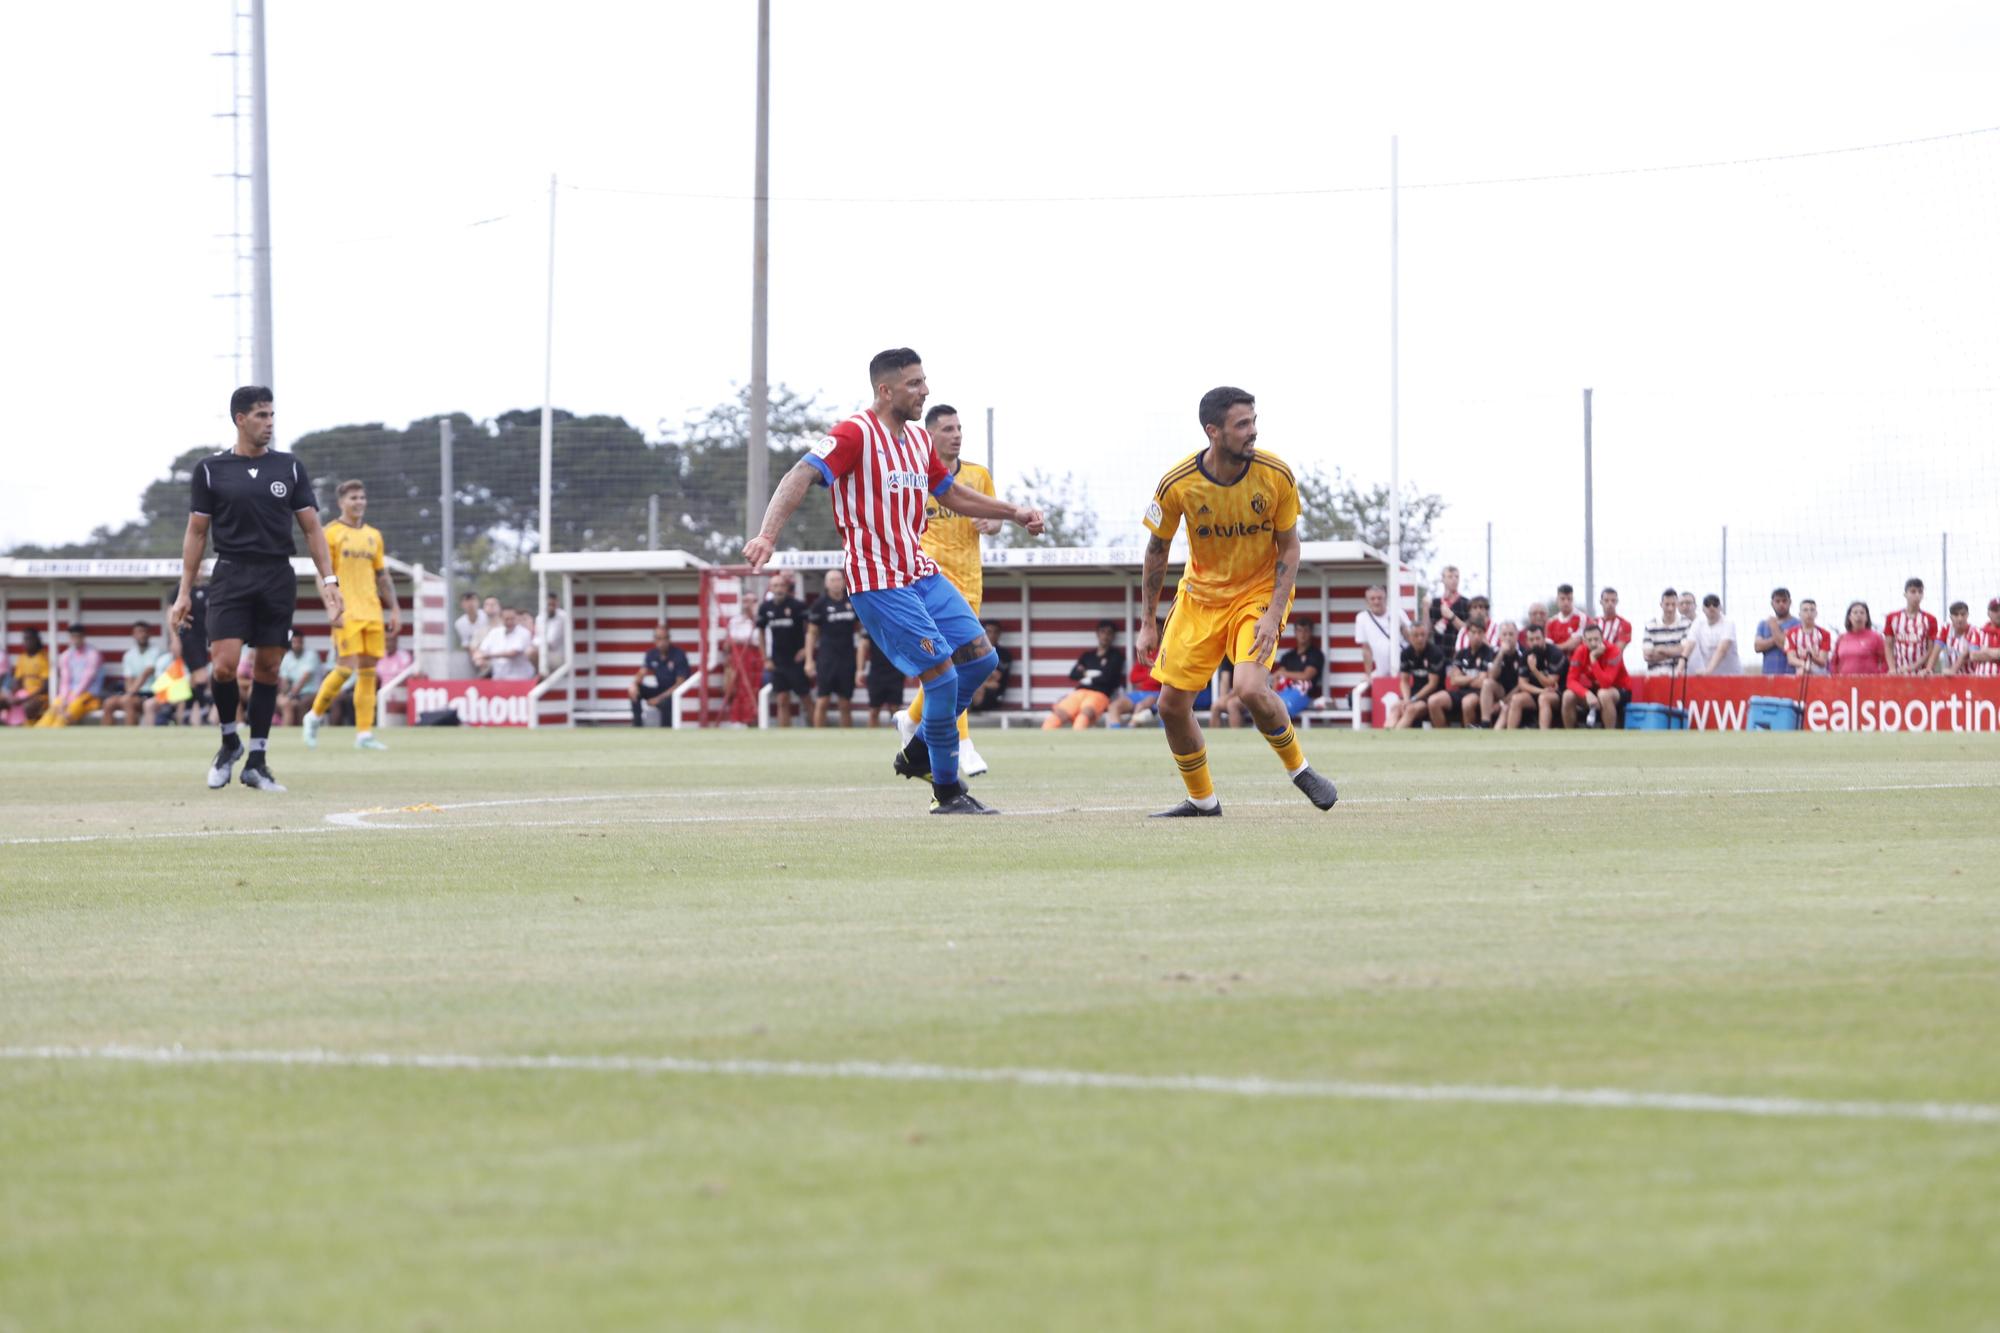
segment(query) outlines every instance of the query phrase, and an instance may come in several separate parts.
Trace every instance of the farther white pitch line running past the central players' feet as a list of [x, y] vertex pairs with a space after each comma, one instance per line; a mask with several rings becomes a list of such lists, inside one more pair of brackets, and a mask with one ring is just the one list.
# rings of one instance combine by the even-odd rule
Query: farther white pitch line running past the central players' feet
[[[522, 805], [584, 805], [584, 803], [604, 803], [604, 801], [698, 801], [698, 799], [780, 799], [780, 797], [838, 797], [856, 793], [880, 793], [892, 791], [882, 785], [874, 787], [792, 787], [792, 789], [770, 789], [770, 787], [718, 787], [710, 791], [646, 791], [646, 793], [610, 793], [610, 795], [586, 795], [586, 797], [510, 797], [506, 801], [458, 801], [450, 805], [438, 805], [434, 811], [424, 813], [446, 813], [446, 811], [484, 811], [494, 807], [522, 807]], [[1502, 791], [1484, 795], [1464, 795], [1464, 793], [1412, 793], [1406, 797], [1350, 797], [1342, 801], [1344, 807], [1396, 807], [1396, 805], [1504, 805], [1516, 801], [1646, 801], [1656, 797], [1848, 797], [1866, 793], [1894, 793], [1894, 791], [2000, 791], [2000, 783], [1864, 783], [1852, 787], [1642, 787], [1642, 789], [1580, 789], [1580, 791]], [[1002, 811], [1014, 819], [1046, 819], [1050, 815], [1138, 815], [1144, 811], [1154, 811], [1168, 797], [1152, 801], [1146, 805], [1056, 805], [1056, 807], [1036, 807], [1036, 809], [1014, 809]], [[1290, 809], [1298, 807], [1298, 801], [1230, 801], [1224, 809]], [[180, 829], [168, 833], [72, 833], [56, 837], [22, 837], [22, 839], [0, 839], [0, 847], [46, 847], [58, 843], [148, 843], [160, 839], [244, 839], [244, 837], [298, 837], [316, 833], [352, 833], [356, 829], [366, 829], [370, 833], [456, 833], [470, 829], [596, 829], [596, 827], [618, 827], [618, 825], [730, 825], [730, 823], [750, 823], [762, 821], [768, 815], [764, 811], [732, 811], [724, 815], [640, 815], [628, 819], [504, 819], [504, 821], [482, 821], [482, 823], [432, 823], [432, 825], [384, 825], [374, 823], [378, 815], [406, 815], [416, 811], [338, 811], [324, 817], [324, 825], [308, 825], [302, 829], [272, 829], [268, 825], [258, 825], [250, 829]], [[792, 823], [814, 823], [814, 821], [852, 821], [856, 811], [798, 811], [786, 815]]]

